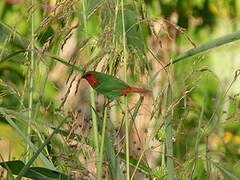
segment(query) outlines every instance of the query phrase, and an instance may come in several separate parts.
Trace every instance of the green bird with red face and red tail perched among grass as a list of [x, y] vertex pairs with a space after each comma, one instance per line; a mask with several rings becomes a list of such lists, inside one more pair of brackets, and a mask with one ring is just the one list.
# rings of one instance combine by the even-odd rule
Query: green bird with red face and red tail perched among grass
[[129, 93], [151, 93], [150, 90], [131, 87], [124, 81], [102, 72], [88, 71], [82, 75], [81, 79], [86, 79], [93, 89], [111, 100]]

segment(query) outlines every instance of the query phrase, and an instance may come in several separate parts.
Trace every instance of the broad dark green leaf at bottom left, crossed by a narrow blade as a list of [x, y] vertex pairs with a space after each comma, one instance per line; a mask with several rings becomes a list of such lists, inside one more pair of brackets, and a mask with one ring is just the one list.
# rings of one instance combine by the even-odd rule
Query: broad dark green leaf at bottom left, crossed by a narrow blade
[[[25, 164], [20, 160], [16, 160], [0, 162], [0, 166], [7, 169], [12, 174], [18, 175]], [[73, 180], [63, 173], [42, 167], [31, 167], [23, 176], [36, 180]]]

